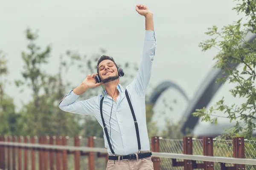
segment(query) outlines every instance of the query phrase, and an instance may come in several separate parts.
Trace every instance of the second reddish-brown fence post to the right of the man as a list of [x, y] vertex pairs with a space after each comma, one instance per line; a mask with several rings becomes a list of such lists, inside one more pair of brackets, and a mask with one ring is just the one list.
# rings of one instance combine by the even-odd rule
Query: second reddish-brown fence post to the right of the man
[[[193, 145], [192, 137], [184, 136], [183, 137], [183, 154], [192, 155], [193, 154]], [[192, 170], [192, 160], [184, 160], [184, 170]]]

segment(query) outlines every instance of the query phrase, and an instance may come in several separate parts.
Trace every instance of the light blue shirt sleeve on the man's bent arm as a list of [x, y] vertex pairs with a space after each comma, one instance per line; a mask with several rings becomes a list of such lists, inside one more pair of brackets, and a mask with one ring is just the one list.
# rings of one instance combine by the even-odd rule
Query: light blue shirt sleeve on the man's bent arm
[[97, 96], [87, 100], [76, 101], [78, 97], [79, 95], [75, 94], [73, 90], [71, 90], [70, 93], [64, 96], [64, 98], [59, 102], [59, 108], [65, 112], [93, 115], [95, 99]]

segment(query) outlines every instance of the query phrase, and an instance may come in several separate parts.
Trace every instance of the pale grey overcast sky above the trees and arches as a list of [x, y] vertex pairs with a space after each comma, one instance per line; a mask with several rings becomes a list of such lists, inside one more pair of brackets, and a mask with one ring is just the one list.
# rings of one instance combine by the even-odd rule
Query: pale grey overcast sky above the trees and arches
[[[67, 49], [90, 55], [98, 52], [99, 48], [105, 48], [116, 62], [130, 61], [139, 65], [145, 34], [145, 19], [135, 11], [135, 6], [140, 3], [154, 13], [157, 49], [150, 84], [156, 86], [162, 81], [172, 80], [192, 98], [214, 65], [212, 58], [217, 52], [201, 52], [198, 44], [208, 38], [204, 34], [208, 27], [222, 27], [239, 19], [232, 11], [235, 6], [233, 0], [1, 1], [0, 50], [8, 58], [9, 80], [20, 78], [23, 66], [21, 51], [27, 45], [24, 31], [28, 27], [39, 30], [37, 43], [41, 47], [52, 45], [47, 68], [52, 73], [57, 71], [60, 54]], [[79, 85], [85, 76], [73, 69], [66, 78]], [[227, 92], [230, 87], [224, 85], [211, 104], [222, 96], [232, 99]], [[7, 87], [7, 93], [20, 106], [21, 100], [29, 100], [27, 96], [31, 91], [26, 89], [20, 94], [12, 83]], [[163, 97], [177, 99], [178, 103], [168, 117], [175, 121], [181, 119], [187, 105], [183, 97], [174, 90], [168, 90]], [[157, 102], [155, 111], [162, 111], [161, 107]], [[163, 122], [163, 118], [154, 117], [158, 122]]]

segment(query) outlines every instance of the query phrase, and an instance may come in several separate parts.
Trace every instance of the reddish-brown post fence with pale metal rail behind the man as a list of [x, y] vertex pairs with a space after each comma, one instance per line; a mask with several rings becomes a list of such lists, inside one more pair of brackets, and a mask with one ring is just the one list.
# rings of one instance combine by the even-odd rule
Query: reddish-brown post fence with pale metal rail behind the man
[[[210, 137], [184, 137], [183, 140], [173, 140], [153, 136], [152, 161], [154, 170], [253, 170], [256, 169], [255, 144], [256, 141], [243, 138], [221, 141]], [[0, 169], [101, 170], [106, 168], [107, 161], [102, 138], [0, 137]]]

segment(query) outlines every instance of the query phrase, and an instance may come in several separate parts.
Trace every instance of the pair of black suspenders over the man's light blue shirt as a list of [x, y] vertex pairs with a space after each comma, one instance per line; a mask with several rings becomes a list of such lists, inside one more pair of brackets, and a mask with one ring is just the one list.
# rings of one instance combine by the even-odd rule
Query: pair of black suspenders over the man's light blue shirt
[[[133, 119], [134, 119], [134, 125], [135, 125], [135, 129], [136, 129], [136, 135], [137, 135], [137, 142], [138, 142], [138, 149], [139, 149], [139, 153], [140, 153], [140, 134], [139, 134], [139, 128], [138, 128], [138, 123], [137, 123], [137, 120], [136, 120], [136, 117], [135, 117], [135, 114], [134, 114], [134, 110], [133, 110], [133, 107], [131, 105], [131, 100], [128, 96], [128, 91], [125, 90], [125, 96], [127, 98], [127, 101], [129, 103], [129, 106], [130, 106], [130, 109], [131, 109], [131, 114], [133, 116]], [[111, 152], [113, 153], [113, 155], [115, 155], [112, 147], [111, 147], [111, 143], [110, 143], [110, 140], [109, 140], [109, 136], [108, 136], [108, 130], [107, 130], [107, 127], [105, 125], [105, 121], [104, 121], [104, 118], [103, 118], [103, 113], [102, 113], [102, 104], [103, 104], [103, 99], [104, 97], [102, 97], [101, 101], [100, 101], [100, 114], [101, 114], [101, 117], [102, 117], [102, 123], [103, 123], [103, 127], [104, 127], [104, 131], [105, 131], [105, 135], [106, 135], [106, 138], [108, 140], [108, 145], [110, 147], [110, 150]]]

